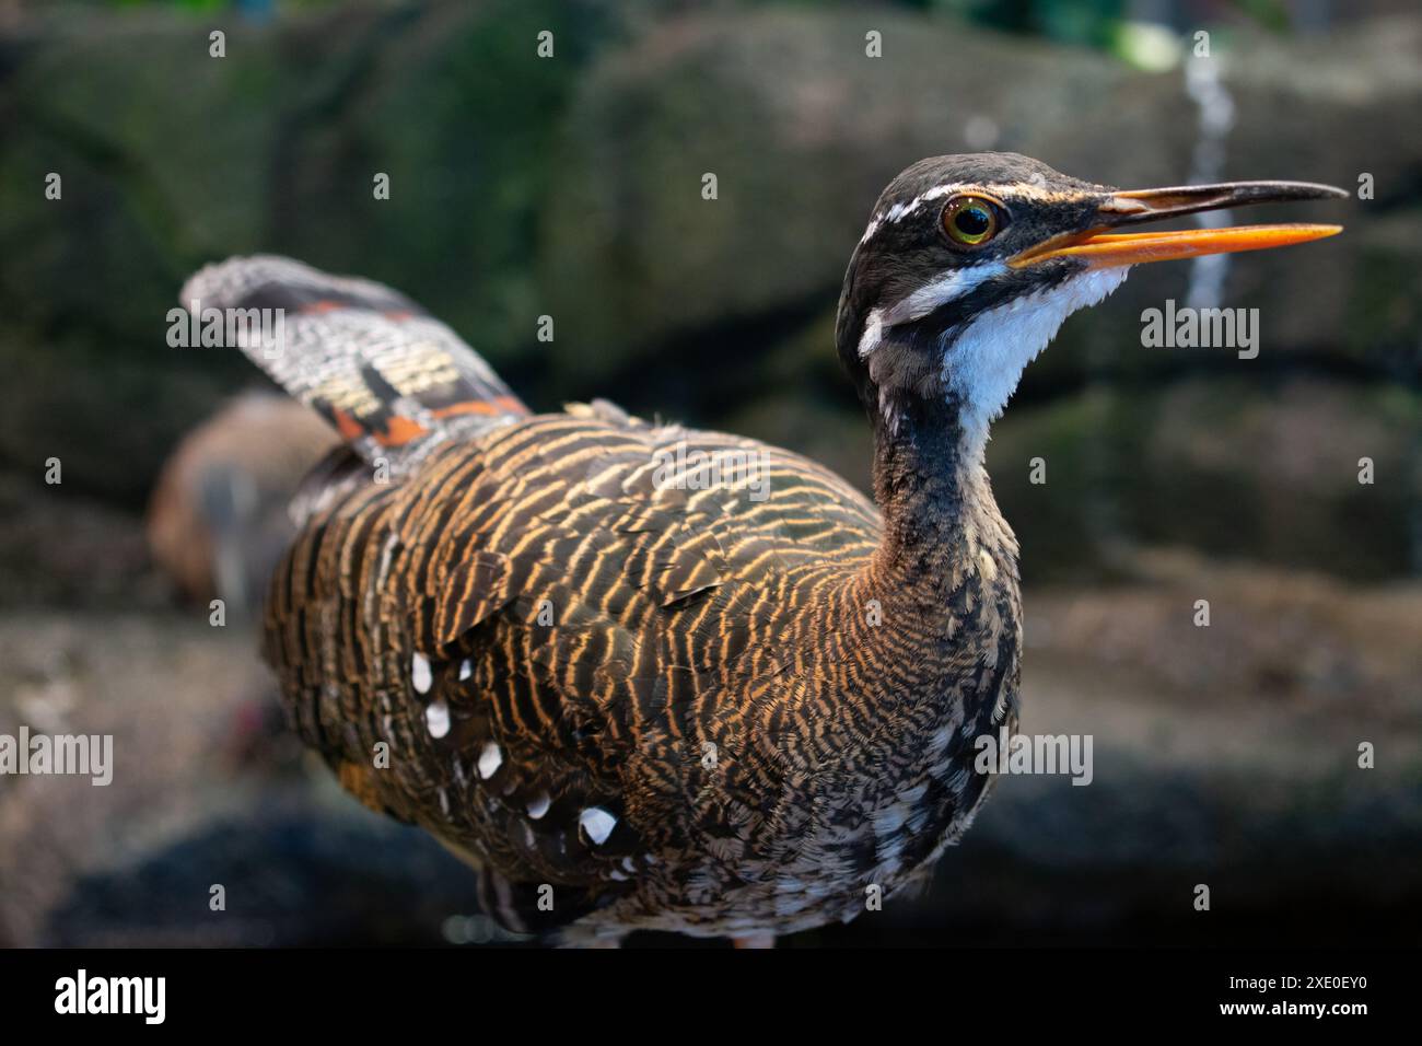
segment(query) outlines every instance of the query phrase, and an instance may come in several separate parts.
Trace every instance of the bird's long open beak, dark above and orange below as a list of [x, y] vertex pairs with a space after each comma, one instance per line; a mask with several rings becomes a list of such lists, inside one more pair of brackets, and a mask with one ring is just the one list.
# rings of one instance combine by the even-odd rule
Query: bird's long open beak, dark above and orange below
[[1052, 258], [1079, 258], [1091, 269], [1109, 269], [1143, 262], [1169, 262], [1175, 258], [1307, 243], [1311, 239], [1340, 233], [1342, 226], [1239, 225], [1223, 229], [1180, 229], [1173, 232], [1111, 232], [1111, 229], [1246, 204], [1347, 199], [1347, 196], [1348, 194], [1342, 189], [1331, 185], [1314, 185], [1313, 182], [1223, 182], [1220, 185], [1180, 185], [1169, 189], [1113, 192], [1099, 206], [1089, 228], [1051, 236], [1012, 256], [1008, 265], [1022, 268]]

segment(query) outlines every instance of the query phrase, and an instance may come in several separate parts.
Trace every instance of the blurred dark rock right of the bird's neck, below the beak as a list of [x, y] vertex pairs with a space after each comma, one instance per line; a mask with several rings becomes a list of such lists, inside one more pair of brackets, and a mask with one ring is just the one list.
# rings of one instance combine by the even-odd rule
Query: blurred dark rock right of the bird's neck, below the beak
[[1018, 403], [987, 458], [1030, 582], [1119, 575], [1136, 545], [1385, 581], [1422, 571], [1419, 434], [1396, 386], [1206, 373]]

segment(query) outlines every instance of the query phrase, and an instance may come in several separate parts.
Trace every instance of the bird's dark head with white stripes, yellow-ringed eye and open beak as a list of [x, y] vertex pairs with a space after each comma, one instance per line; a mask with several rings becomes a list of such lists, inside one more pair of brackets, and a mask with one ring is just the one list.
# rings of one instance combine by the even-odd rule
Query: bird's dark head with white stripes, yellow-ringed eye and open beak
[[1022, 369], [1075, 310], [1132, 265], [1258, 250], [1341, 231], [1256, 225], [1121, 232], [1244, 204], [1347, 196], [1307, 182], [1118, 191], [1030, 157], [934, 157], [884, 189], [845, 275], [836, 339], [870, 411], [896, 431], [916, 403], [947, 401], [964, 437], [987, 426]]

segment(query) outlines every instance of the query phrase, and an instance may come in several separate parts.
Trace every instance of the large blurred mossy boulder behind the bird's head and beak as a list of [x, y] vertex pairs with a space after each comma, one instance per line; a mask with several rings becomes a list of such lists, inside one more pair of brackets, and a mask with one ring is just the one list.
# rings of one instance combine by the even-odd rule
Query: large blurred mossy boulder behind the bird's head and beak
[[[867, 28], [883, 33], [883, 58], [865, 56]], [[1354, 188], [1368, 171], [1378, 186], [1371, 202], [1310, 212], [1341, 218], [1345, 236], [1240, 260], [1229, 303], [1260, 309], [1270, 356], [1415, 376], [1422, 211], [1409, 201], [1422, 135], [1398, 132], [1422, 111], [1422, 20], [1216, 47], [1236, 105], [1223, 178]], [[559, 359], [593, 380], [610, 359], [650, 369], [688, 332], [828, 306], [889, 178], [920, 157], [974, 148], [984, 127], [994, 148], [1143, 188], [1187, 176], [1196, 122], [1179, 71], [1139, 73], [950, 20], [884, 9], [668, 20], [597, 64], [569, 120], [562, 167], [577, 176], [550, 201], [543, 255], [557, 315], [576, 317]], [[701, 198], [705, 172], [717, 175], [715, 201]], [[1159, 370], [1160, 356], [1139, 349], [1138, 317], [1165, 297], [1183, 302], [1187, 276], [1185, 265], [1138, 269], [1028, 380]], [[752, 384], [761, 352], [727, 339], [712, 366]]]

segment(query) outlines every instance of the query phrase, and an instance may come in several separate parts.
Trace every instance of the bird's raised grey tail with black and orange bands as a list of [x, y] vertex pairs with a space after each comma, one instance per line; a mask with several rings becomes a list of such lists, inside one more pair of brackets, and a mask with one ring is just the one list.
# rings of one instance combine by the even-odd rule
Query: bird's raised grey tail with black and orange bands
[[273, 255], [230, 258], [182, 289], [202, 343], [236, 344], [368, 463], [402, 471], [435, 445], [529, 414], [488, 363], [404, 295]]

